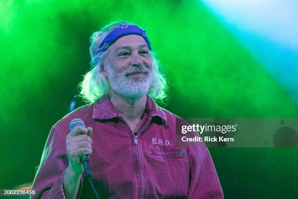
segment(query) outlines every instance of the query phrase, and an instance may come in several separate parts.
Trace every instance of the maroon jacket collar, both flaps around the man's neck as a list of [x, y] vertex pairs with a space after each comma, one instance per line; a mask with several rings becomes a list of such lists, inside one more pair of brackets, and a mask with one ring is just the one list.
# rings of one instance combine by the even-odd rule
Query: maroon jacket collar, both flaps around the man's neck
[[[162, 119], [163, 124], [167, 125], [167, 117], [165, 111], [160, 108], [150, 97], [147, 95], [147, 103], [145, 112], [149, 117], [159, 117]], [[123, 118], [122, 115], [115, 109], [109, 95], [101, 97], [94, 103], [93, 119], [112, 119], [115, 117]]]

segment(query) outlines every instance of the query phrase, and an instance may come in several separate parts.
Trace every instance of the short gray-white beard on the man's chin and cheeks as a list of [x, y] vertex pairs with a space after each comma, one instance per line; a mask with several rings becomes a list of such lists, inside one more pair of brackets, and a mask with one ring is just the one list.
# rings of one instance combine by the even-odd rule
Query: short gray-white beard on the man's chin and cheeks
[[107, 67], [109, 74], [108, 80], [110, 87], [116, 93], [119, 93], [126, 97], [141, 97], [147, 94], [152, 82], [152, 72], [148, 71], [146, 77], [132, 78], [127, 77], [125, 74], [127, 71], [122, 73], [115, 73], [110, 66]]

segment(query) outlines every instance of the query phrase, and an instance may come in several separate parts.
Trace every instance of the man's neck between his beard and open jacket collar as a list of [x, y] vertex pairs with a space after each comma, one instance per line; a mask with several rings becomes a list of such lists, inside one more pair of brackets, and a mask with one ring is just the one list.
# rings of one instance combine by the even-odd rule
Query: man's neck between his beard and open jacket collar
[[146, 108], [147, 95], [131, 98], [115, 93], [111, 89], [109, 96], [113, 106], [121, 113], [125, 120], [132, 121], [142, 117]]

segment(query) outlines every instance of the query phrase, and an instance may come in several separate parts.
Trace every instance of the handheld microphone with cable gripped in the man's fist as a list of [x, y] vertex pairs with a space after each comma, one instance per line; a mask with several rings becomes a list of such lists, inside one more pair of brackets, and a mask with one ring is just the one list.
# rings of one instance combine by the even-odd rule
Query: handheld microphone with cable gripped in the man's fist
[[[85, 123], [82, 119], [73, 119], [70, 123], [69, 123], [69, 130], [73, 130], [76, 126], [84, 126], [85, 127]], [[87, 179], [89, 179], [90, 185], [92, 187], [92, 190], [95, 194], [96, 199], [100, 199], [98, 196], [98, 193], [93, 185], [93, 181], [92, 181], [92, 174], [91, 174], [91, 169], [90, 169], [90, 164], [89, 164], [89, 156], [84, 156], [81, 159], [83, 166], [84, 166], [84, 171], [85, 171], [85, 175], [87, 177]]]

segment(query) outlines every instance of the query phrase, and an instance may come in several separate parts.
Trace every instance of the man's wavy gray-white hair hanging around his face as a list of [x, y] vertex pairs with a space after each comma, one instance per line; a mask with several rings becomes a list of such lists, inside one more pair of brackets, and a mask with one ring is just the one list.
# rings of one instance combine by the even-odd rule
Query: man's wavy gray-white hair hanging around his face
[[[107, 78], [105, 78], [101, 72], [107, 64], [107, 55], [109, 48], [99, 55], [95, 54], [101, 41], [110, 33], [113, 29], [119, 27], [119, 25], [134, 25], [128, 21], [114, 21], [104, 26], [100, 31], [94, 32], [90, 37], [90, 56], [91, 56], [91, 70], [86, 73], [83, 81], [80, 82], [80, 97], [85, 102], [95, 102], [100, 97], [109, 93], [110, 85]], [[168, 85], [165, 79], [165, 75], [162, 70], [161, 63], [155, 58], [155, 54], [150, 53], [152, 62], [152, 82], [149, 87], [148, 95], [155, 101], [164, 102], [168, 97]]]

